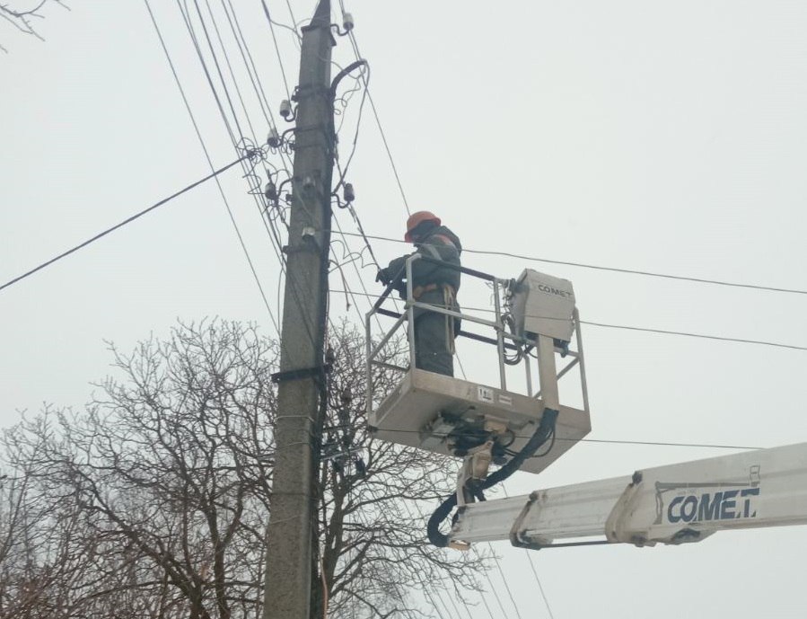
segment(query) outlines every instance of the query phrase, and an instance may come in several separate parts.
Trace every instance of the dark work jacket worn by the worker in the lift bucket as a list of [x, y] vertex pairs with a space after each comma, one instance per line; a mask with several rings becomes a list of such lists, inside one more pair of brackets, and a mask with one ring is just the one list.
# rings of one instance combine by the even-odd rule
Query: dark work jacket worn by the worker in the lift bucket
[[[417, 243], [416, 247], [417, 249], [414, 253], [419, 253], [426, 258], [434, 258], [458, 267], [461, 265], [462, 244], [460, 243], [460, 238], [444, 225], [434, 228], [431, 234], [426, 236], [420, 243]], [[395, 278], [394, 283], [398, 285], [401, 296], [406, 296], [405, 281], [407, 273], [405, 267], [406, 261], [411, 255], [414, 254], [409, 253], [406, 256], [400, 256], [390, 261], [390, 265], [386, 269], [390, 277]], [[426, 260], [412, 262], [412, 289], [428, 286], [429, 284], [437, 284], [440, 288], [425, 292], [417, 300], [423, 303], [444, 306], [442, 287], [444, 285], [451, 286], [454, 295], [456, 295], [457, 290], [460, 289], [460, 271]], [[452, 309], [459, 311], [459, 306], [452, 303]], [[422, 312], [422, 310], [416, 310], [416, 317]]]

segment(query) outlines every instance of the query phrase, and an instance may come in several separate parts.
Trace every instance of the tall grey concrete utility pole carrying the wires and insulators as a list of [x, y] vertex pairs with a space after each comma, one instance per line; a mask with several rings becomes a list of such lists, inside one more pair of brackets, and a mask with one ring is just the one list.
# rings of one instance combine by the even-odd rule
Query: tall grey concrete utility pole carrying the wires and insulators
[[264, 619], [308, 619], [316, 565], [320, 378], [327, 321], [333, 98], [330, 0], [303, 28], [277, 391]]

